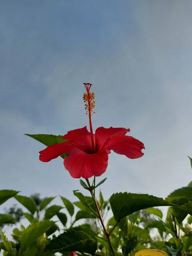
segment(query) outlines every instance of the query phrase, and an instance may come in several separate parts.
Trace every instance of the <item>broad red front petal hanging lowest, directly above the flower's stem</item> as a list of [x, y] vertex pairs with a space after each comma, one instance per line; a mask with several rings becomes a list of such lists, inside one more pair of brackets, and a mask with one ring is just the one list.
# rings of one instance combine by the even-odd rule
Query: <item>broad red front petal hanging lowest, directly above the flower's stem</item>
[[73, 148], [69, 157], [64, 159], [64, 166], [73, 178], [90, 178], [102, 175], [108, 166], [108, 154], [101, 150], [95, 154], [87, 154]]

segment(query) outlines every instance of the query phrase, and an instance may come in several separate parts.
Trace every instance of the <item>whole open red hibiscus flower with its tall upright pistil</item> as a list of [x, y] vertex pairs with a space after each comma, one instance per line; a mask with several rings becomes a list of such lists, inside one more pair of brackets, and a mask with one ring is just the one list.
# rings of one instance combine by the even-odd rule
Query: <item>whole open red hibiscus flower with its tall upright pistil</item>
[[[88, 85], [91, 86], [91, 84]], [[99, 127], [93, 134], [91, 115], [95, 102], [93, 102], [94, 95], [89, 92], [90, 87], [87, 90], [87, 94], [84, 94], [84, 102], [87, 102], [85, 108], [90, 117], [90, 132], [86, 126], [68, 131], [62, 137], [63, 140], [68, 140], [67, 142], [50, 145], [39, 152], [39, 159], [42, 162], [49, 162], [70, 152], [70, 155], [64, 158], [64, 166], [73, 178], [90, 178], [102, 175], [107, 169], [108, 154], [111, 153], [111, 150], [135, 159], [142, 157], [143, 152], [141, 150], [145, 149], [142, 142], [125, 135], [130, 129]], [[90, 96], [91, 100], [87, 95]]]

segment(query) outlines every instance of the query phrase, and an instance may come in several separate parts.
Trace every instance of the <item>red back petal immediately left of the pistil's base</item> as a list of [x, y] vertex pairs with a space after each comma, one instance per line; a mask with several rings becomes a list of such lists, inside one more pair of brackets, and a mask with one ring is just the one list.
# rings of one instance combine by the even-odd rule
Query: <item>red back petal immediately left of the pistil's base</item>
[[66, 135], [62, 137], [63, 140], [70, 140], [77, 148], [83, 151], [91, 151], [91, 136], [87, 130], [87, 126], [76, 130], [68, 131]]

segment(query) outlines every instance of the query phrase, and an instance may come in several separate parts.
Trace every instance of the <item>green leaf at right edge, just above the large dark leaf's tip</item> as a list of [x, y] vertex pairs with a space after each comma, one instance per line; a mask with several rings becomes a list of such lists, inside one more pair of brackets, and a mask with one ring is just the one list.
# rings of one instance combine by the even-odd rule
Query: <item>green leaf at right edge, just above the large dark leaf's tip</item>
[[172, 202], [178, 198], [192, 198], [192, 186], [186, 186], [174, 190], [170, 195], [167, 196], [166, 200]]

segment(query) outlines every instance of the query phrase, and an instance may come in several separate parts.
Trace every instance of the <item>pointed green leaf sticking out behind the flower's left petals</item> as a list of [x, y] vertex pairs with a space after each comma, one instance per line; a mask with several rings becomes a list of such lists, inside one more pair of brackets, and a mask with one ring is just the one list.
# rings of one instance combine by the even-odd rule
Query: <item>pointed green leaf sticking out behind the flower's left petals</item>
[[[67, 140], [62, 140], [61, 135], [52, 135], [52, 134], [25, 134], [29, 137], [32, 137], [35, 140], [38, 140], [39, 142], [43, 143], [46, 146], [58, 144], [58, 143], [64, 143]], [[69, 153], [63, 154], [60, 157], [68, 157]]]

